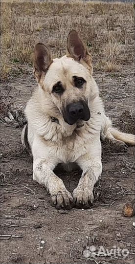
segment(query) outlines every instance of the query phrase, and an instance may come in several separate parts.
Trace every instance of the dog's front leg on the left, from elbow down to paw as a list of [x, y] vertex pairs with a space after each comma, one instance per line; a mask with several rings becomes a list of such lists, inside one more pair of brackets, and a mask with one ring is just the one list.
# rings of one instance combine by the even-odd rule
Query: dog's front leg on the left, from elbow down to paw
[[53, 172], [57, 164], [51, 164], [46, 160], [35, 159], [33, 163], [33, 179], [44, 185], [50, 193], [53, 206], [57, 209], [70, 209], [73, 198], [67, 191], [62, 179]]

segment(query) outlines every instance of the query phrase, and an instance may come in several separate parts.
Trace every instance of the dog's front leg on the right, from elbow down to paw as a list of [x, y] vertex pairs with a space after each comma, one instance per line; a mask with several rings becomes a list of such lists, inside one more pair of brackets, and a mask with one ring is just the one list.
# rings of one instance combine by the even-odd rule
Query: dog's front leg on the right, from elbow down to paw
[[93, 203], [93, 188], [102, 173], [102, 163], [100, 158], [86, 154], [77, 160], [78, 165], [83, 170], [78, 186], [73, 191], [73, 198], [77, 208], [89, 208]]

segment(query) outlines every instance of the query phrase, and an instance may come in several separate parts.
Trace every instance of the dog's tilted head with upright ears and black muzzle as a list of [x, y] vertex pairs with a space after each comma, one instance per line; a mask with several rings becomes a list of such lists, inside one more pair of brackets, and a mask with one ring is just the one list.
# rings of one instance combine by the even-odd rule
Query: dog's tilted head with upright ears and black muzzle
[[90, 119], [91, 55], [75, 30], [67, 37], [67, 55], [60, 59], [52, 60], [44, 44], [36, 45], [34, 74], [65, 122], [73, 125]]

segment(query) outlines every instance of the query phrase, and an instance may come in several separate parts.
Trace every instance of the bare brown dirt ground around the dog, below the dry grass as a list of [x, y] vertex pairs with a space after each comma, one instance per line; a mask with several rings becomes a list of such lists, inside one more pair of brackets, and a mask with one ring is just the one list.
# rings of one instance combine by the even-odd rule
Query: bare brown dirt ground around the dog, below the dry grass
[[[134, 133], [134, 63], [129, 60], [121, 65], [112, 72], [95, 67], [93, 76], [113, 124]], [[103, 142], [103, 173], [94, 188], [93, 206], [57, 211], [45, 188], [33, 182], [32, 157], [21, 143], [26, 123], [23, 110], [35, 88], [32, 68], [28, 75], [1, 82], [0, 263], [134, 264], [135, 219], [122, 215], [124, 203], [135, 198], [134, 147], [120, 149]], [[61, 167], [56, 174], [69, 191], [81, 176], [80, 171], [67, 174]], [[98, 256], [100, 246], [106, 256]], [[128, 250], [126, 257], [107, 252], [118, 247], [122, 252]]]

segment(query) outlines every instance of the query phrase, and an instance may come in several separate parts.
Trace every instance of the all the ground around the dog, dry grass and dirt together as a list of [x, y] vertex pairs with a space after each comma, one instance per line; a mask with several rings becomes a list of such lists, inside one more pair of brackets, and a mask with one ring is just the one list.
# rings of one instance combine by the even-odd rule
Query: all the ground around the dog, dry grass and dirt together
[[[1, 3], [0, 263], [134, 264], [135, 219], [122, 215], [124, 203], [135, 198], [134, 147], [102, 142], [103, 173], [93, 206], [71, 211], [51, 207], [45, 188], [32, 180], [32, 157], [22, 147], [23, 110], [36, 87], [33, 47], [47, 43], [53, 57], [61, 57], [72, 28], [92, 55], [93, 76], [113, 126], [135, 132], [135, 6], [58, 2]], [[81, 176], [60, 166], [55, 172], [69, 191]]]

